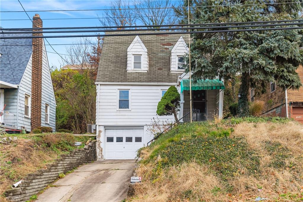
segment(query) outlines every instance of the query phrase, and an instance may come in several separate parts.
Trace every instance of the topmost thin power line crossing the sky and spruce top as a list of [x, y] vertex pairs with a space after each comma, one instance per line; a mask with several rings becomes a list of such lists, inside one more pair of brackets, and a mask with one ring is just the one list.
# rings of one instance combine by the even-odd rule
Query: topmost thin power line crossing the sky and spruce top
[[[301, 2], [275, 2], [275, 3], [264, 3], [264, 4], [228, 4], [228, 5], [205, 5], [205, 6], [189, 6], [189, 8], [206, 8], [206, 7], [228, 7], [228, 6], [250, 6], [250, 5], [276, 5], [276, 4], [295, 4]], [[36, 10], [36, 11], [26, 11], [26, 12], [61, 12], [61, 11], [113, 11], [113, 10], [148, 10], [148, 9], [178, 9], [178, 8], [188, 8], [188, 6], [180, 7], [158, 7], [158, 8], [109, 8], [109, 9], [73, 9], [73, 10]], [[0, 11], [2, 13], [12, 13], [12, 12], [25, 12], [25, 11]]]

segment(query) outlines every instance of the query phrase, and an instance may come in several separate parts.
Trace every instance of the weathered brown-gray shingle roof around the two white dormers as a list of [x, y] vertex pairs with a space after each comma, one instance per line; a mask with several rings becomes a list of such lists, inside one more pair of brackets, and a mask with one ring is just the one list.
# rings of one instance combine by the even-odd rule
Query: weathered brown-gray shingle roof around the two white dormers
[[[123, 33], [157, 32], [129, 31]], [[110, 32], [109, 34], [121, 34]], [[127, 48], [136, 36], [104, 37], [102, 54], [99, 62], [96, 82], [131, 82], [131, 83], [176, 83], [180, 73], [170, 72], [171, 49], [182, 36], [176, 35], [141, 35], [148, 53], [148, 72], [127, 72]], [[187, 42], [187, 41], [186, 41]]]

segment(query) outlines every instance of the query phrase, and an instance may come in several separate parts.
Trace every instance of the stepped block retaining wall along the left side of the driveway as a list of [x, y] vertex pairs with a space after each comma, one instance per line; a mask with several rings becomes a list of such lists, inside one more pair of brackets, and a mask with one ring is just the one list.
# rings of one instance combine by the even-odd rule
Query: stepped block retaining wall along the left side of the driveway
[[83, 149], [76, 149], [70, 154], [61, 154], [52, 164], [47, 164], [47, 169], [38, 170], [28, 174], [17, 188], [6, 190], [5, 197], [9, 201], [20, 202], [29, 200], [32, 195], [47, 187], [48, 184], [58, 179], [59, 173], [67, 173], [85, 163], [97, 160], [96, 143], [91, 142]]

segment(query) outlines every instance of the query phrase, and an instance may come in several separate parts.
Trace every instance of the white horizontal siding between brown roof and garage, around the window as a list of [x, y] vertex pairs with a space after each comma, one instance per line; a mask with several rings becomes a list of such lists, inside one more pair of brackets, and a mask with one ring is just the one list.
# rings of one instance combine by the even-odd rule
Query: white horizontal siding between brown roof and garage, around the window
[[[130, 89], [129, 111], [117, 110], [117, 89]], [[157, 117], [157, 105], [161, 98], [161, 90], [169, 86], [100, 86], [99, 125], [145, 125], [151, 124]], [[98, 89], [97, 89], [98, 90]], [[98, 92], [97, 92], [98, 93]], [[160, 121], [174, 121], [173, 116], [158, 116]]]

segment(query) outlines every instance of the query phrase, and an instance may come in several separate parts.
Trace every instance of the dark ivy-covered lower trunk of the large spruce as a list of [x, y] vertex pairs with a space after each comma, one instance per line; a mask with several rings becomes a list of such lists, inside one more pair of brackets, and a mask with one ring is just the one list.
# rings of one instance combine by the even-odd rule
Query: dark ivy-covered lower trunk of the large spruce
[[241, 98], [238, 100], [238, 116], [249, 116], [249, 104], [248, 104], [248, 92], [249, 92], [249, 73], [244, 72], [241, 76], [241, 85], [239, 88], [239, 94]]

